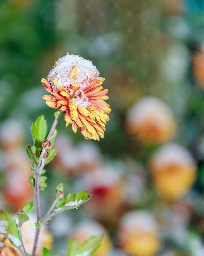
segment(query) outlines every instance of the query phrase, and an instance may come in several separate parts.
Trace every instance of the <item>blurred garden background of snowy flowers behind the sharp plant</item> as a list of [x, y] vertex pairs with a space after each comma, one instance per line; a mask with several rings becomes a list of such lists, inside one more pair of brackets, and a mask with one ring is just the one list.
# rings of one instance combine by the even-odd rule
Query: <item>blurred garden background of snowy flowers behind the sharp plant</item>
[[25, 144], [38, 116], [54, 121], [40, 83], [54, 61], [91, 60], [109, 89], [104, 139], [58, 123], [42, 213], [62, 181], [93, 197], [44, 226], [38, 255], [103, 233], [94, 256], [203, 256], [204, 1], [2, 0], [0, 24], [0, 209], [15, 216], [33, 200]]

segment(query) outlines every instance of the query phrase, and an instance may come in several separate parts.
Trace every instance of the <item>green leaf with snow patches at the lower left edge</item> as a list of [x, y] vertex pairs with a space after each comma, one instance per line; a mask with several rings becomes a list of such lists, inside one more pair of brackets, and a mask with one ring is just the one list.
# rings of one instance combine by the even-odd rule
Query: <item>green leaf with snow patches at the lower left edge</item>
[[21, 247], [16, 220], [12, 220], [8, 212], [0, 211], [0, 233], [3, 234], [13, 246]]

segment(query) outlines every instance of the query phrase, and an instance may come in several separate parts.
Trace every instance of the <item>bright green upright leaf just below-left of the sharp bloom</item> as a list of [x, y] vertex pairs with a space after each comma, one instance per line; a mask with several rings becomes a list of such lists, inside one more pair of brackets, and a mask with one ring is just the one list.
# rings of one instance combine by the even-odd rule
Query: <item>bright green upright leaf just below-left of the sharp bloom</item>
[[47, 121], [45, 120], [44, 115], [37, 118], [35, 124], [32, 124], [31, 130], [34, 143], [36, 141], [42, 142], [46, 139]]

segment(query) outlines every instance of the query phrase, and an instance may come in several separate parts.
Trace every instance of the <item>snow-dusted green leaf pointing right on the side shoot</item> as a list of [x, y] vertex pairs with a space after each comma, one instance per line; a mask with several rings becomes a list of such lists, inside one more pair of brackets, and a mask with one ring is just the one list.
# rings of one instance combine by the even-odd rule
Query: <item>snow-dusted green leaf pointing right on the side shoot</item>
[[53, 212], [63, 212], [64, 210], [71, 210], [78, 208], [81, 204], [87, 202], [92, 195], [87, 194], [88, 190], [81, 191], [76, 194], [70, 193], [67, 197], [62, 198], [56, 204], [56, 209]]

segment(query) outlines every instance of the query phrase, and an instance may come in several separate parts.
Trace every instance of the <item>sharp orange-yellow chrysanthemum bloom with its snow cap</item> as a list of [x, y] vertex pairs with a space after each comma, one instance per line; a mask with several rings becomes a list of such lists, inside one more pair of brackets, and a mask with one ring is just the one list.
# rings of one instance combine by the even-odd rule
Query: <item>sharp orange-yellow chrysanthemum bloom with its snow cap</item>
[[104, 138], [107, 114], [111, 112], [104, 101], [108, 99], [108, 90], [101, 86], [104, 80], [91, 61], [67, 54], [55, 61], [47, 79], [42, 78], [51, 93], [42, 98], [49, 107], [65, 111], [66, 126], [71, 124], [74, 132], [79, 127], [85, 139], [99, 140]]

